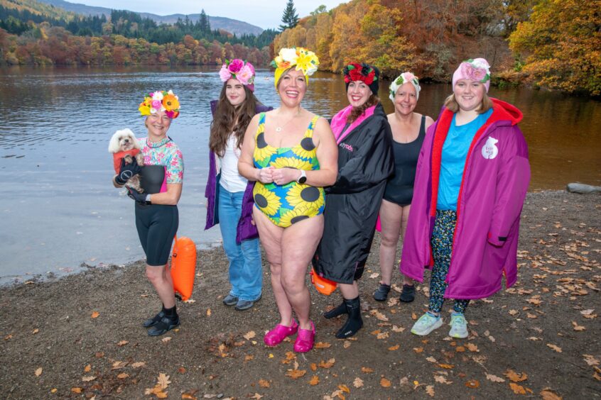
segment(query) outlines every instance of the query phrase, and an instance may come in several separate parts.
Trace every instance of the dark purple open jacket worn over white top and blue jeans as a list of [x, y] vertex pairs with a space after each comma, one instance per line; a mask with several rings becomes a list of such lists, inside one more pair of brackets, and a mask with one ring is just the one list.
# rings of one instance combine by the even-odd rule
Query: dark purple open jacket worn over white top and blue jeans
[[[211, 101], [212, 115], [215, 114], [216, 108], [217, 100]], [[263, 113], [270, 110], [273, 110], [273, 107], [257, 105], [255, 111], [256, 113]], [[209, 177], [207, 179], [207, 187], [205, 187], [205, 197], [207, 198], [207, 223], [205, 225], [205, 230], [212, 228], [219, 223], [215, 205], [217, 204], [217, 174], [219, 174], [220, 171], [217, 171], [217, 162], [215, 162], [215, 157], [217, 157], [217, 155], [209, 150]], [[247, 189], [244, 191], [244, 196], [242, 197], [242, 216], [240, 216], [240, 220], [238, 221], [238, 226], [236, 228], [237, 243], [242, 243], [242, 240], [259, 237], [259, 231], [256, 230], [256, 226], [254, 226], [251, 222], [252, 206], [254, 204], [254, 200], [252, 198], [253, 188], [254, 182], [249, 181], [247, 184]]]

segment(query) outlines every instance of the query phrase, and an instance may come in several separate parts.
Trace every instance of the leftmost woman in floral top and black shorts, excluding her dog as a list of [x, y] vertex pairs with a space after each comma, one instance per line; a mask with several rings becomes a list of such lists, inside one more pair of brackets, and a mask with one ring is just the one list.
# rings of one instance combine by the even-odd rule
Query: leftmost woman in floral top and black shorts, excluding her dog
[[173, 237], [178, 230], [178, 201], [182, 193], [182, 152], [167, 131], [171, 121], [179, 115], [178, 96], [173, 91], [155, 91], [144, 96], [139, 106], [148, 136], [138, 143], [144, 156], [144, 166], [136, 160], [121, 162], [119, 174], [113, 179], [115, 187], [122, 187], [129, 177], [140, 174], [143, 193], [127, 188], [128, 196], [136, 201], [136, 228], [146, 253], [146, 277], [153, 284], [163, 302], [163, 309], [144, 321], [148, 335], [163, 335], [180, 324], [175, 309], [173, 281], [167, 266]]

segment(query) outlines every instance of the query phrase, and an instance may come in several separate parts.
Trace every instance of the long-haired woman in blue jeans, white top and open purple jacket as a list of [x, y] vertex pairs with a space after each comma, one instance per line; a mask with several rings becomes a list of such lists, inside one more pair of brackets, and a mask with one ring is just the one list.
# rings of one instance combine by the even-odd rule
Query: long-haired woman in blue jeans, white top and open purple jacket
[[271, 107], [262, 106], [253, 94], [255, 74], [250, 62], [226, 61], [219, 74], [223, 87], [219, 101], [211, 102], [205, 229], [220, 224], [232, 284], [223, 304], [242, 311], [261, 298], [263, 271], [259, 234], [252, 222], [254, 182], [248, 182], [238, 173], [238, 159], [252, 117]]

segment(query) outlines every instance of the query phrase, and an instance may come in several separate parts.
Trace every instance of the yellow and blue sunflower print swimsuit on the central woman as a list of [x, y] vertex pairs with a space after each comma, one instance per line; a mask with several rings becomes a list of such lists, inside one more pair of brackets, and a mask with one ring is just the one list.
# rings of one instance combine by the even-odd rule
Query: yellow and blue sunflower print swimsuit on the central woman
[[[319, 162], [313, 144], [313, 128], [319, 116], [313, 117], [301, 140], [292, 148], [274, 148], [265, 141], [265, 113], [259, 115], [259, 128], [254, 139], [253, 162], [256, 168], [294, 168], [296, 170], [319, 170]], [[271, 222], [287, 228], [303, 219], [318, 216], [325, 207], [323, 188], [300, 184], [296, 181], [282, 186], [256, 182], [253, 190], [255, 206]]]

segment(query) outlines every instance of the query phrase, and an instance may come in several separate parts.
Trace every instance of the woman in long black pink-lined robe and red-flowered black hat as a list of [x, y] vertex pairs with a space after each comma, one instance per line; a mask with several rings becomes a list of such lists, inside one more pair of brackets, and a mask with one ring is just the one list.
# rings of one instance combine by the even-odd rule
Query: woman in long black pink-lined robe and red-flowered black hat
[[386, 179], [394, 172], [392, 133], [377, 96], [379, 70], [354, 63], [343, 72], [350, 105], [330, 123], [338, 144], [338, 175], [325, 188], [325, 227], [313, 259], [315, 273], [337, 282], [342, 292], [342, 304], [324, 314], [348, 314], [337, 338], [363, 326], [357, 279], [372, 247]]

